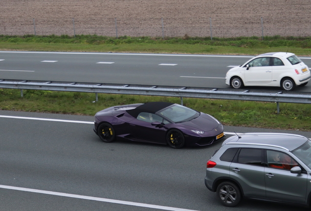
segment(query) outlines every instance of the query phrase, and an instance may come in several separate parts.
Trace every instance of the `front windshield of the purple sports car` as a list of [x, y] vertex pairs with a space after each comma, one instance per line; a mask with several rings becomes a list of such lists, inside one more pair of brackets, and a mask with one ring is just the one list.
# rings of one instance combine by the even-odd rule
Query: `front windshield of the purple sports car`
[[159, 113], [175, 123], [187, 122], [200, 116], [198, 111], [178, 104], [165, 108]]

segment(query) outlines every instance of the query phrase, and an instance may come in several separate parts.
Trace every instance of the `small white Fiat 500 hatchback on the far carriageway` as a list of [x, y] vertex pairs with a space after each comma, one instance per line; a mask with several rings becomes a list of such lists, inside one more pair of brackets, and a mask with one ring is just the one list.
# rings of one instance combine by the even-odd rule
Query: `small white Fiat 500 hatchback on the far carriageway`
[[309, 67], [293, 53], [266, 53], [231, 68], [226, 84], [233, 88], [243, 86], [280, 86], [290, 91], [304, 86], [311, 79]]

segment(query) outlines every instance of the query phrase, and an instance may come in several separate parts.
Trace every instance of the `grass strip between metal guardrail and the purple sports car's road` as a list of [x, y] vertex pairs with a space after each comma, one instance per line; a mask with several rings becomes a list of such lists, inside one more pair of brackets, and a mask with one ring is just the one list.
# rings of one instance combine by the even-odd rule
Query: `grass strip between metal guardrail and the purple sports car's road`
[[[94, 115], [113, 105], [128, 105], [151, 101], [180, 104], [179, 98], [139, 95], [114, 95], [80, 92], [0, 89], [0, 110]], [[311, 131], [311, 109], [305, 104], [275, 103], [184, 98], [183, 104], [213, 115], [225, 126], [261, 127]]]

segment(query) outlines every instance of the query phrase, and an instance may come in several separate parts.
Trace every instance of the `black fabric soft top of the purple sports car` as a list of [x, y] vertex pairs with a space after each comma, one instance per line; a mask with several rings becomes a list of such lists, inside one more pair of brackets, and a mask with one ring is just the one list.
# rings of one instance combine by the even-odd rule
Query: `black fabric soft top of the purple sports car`
[[137, 118], [138, 114], [141, 112], [147, 112], [147, 113], [156, 113], [159, 110], [162, 110], [163, 108], [166, 108], [170, 105], [174, 105], [173, 103], [167, 103], [167, 102], [149, 102], [145, 103], [143, 105], [139, 105], [135, 109], [127, 110], [127, 112]]

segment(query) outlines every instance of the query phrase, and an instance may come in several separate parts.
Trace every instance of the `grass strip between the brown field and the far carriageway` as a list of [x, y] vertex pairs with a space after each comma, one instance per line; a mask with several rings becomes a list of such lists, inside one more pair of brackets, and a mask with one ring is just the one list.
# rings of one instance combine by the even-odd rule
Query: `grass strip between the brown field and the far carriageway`
[[78, 52], [148, 52], [186, 54], [258, 55], [266, 52], [292, 52], [311, 55], [311, 37], [189, 37], [152, 38], [97, 35], [5, 36], [0, 35], [0, 50], [78, 51]]

